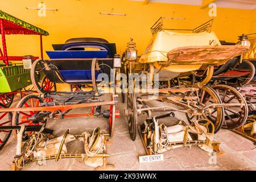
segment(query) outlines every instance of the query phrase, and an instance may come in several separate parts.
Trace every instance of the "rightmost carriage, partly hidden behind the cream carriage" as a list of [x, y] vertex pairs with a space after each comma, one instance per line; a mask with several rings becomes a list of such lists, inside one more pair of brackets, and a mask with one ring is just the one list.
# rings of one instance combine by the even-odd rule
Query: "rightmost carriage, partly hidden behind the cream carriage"
[[[246, 136], [254, 140], [254, 115], [255, 115], [255, 37], [254, 34], [239, 36], [238, 43], [227, 43], [222, 41], [222, 45], [243, 44], [250, 47], [248, 52], [243, 55], [234, 57], [227, 61], [224, 65], [216, 67], [213, 72], [212, 80], [209, 85], [212, 85], [220, 97], [222, 102], [234, 103], [243, 100], [247, 106], [225, 108], [225, 123], [224, 129], [230, 129], [238, 134]], [[221, 92], [219, 92], [221, 90]], [[251, 133], [248, 133], [250, 131]]]

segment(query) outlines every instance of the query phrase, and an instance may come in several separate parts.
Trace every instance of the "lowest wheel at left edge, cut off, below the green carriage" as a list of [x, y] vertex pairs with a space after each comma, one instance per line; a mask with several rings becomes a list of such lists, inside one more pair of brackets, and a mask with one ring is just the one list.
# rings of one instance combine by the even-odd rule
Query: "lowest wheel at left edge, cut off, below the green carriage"
[[[0, 103], [0, 109], [7, 108], [7, 106]], [[13, 114], [11, 112], [0, 113], [0, 127], [1, 126], [11, 126], [11, 118]], [[2, 130], [0, 131], [0, 150], [5, 146], [7, 140], [11, 136], [11, 130]]]

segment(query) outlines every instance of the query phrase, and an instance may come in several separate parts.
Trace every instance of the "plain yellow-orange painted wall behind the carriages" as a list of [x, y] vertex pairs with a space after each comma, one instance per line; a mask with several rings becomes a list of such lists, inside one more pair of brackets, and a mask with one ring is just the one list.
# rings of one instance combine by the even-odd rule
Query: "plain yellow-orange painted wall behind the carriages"
[[[160, 16], [186, 18], [166, 20], [166, 27], [172, 28], [195, 28], [211, 19], [209, 9], [200, 9], [200, 6], [151, 2], [143, 5], [143, 2], [127, 0], [44, 0], [47, 8], [59, 10], [47, 11], [46, 17], [39, 17], [37, 10], [26, 9], [37, 7], [41, 1], [0, 0], [0, 9], [47, 30], [50, 35], [44, 38], [44, 50], [52, 50], [52, 43], [64, 43], [69, 38], [101, 37], [117, 43], [117, 50], [122, 53], [133, 37], [142, 53], [152, 36], [150, 27]], [[112, 9], [113, 13], [127, 16], [100, 15], [101, 11]], [[255, 16], [254, 10], [218, 8], [212, 30], [221, 40], [237, 42], [238, 35], [256, 32]], [[9, 55], [39, 55], [38, 36], [7, 36], [7, 46]]]

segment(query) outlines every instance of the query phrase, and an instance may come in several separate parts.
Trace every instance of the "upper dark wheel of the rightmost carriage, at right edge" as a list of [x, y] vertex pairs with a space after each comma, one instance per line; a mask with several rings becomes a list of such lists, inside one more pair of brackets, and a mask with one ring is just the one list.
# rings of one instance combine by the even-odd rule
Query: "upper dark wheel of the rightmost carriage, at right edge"
[[[251, 80], [253, 80], [255, 75], [255, 67], [253, 63], [247, 60], [243, 60], [242, 64], [238, 65], [236, 67], [236, 71], [245, 73], [244, 76], [241, 76], [239, 78], [232, 78], [228, 80], [227, 84], [230, 86], [243, 86], [249, 84]], [[247, 74], [246, 74], [247, 73]]]

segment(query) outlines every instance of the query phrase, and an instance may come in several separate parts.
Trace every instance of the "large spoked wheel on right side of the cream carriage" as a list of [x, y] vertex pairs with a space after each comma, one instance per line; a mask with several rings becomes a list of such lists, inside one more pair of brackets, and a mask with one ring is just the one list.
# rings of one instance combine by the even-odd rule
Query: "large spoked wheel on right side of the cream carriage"
[[[197, 99], [193, 100], [195, 104], [201, 108], [209, 106], [211, 104], [222, 104], [218, 94], [209, 86], [203, 86], [196, 92], [188, 92], [187, 96], [196, 96]], [[214, 124], [214, 133], [217, 133], [224, 122], [224, 109], [223, 107], [209, 107], [206, 113], [201, 115], [191, 115], [186, 113], [189, 123], [198, 121], [199, 119], [209, 119]]]

